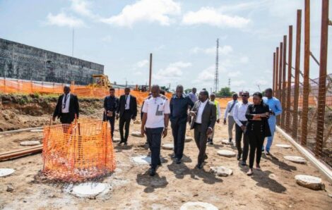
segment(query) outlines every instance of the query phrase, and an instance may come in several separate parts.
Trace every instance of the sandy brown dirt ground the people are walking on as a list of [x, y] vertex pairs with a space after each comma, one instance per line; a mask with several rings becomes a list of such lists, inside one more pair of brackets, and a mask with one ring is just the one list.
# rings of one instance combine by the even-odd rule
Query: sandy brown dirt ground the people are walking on
[[[131, 131], [141, 125], [132, 124]], [[171, 131], [171, 130], [170, 130]], [[186, 131], [193, 136], [193, 131]], [[40, 139], [41, 133], [22, 132], [0, 136], [0, 149], [20, 148], [21, 140]], [[119, 132], [115, 132], [119, 137]], [[109, 193], [95, 199], [77, 198], [64, 192], [64, 185], [40, 183], [35, 175], [42, 169], [40, 154], [0, 162], [0, 168], [14, 168], [13, 175], [0, 178], [0, 209], [179, 209], [185, 202], [208, 202], [219, 209], [331, 209], [332, 185], [311, 163], [297, 164], [283, 159], [285, 155], [301, 156], [297, 150], [282, 149], [275, 144], [289, 144], [280, 134], [275, 135], [271, 156], [262, 156], [262, 171], [246, 175], [247, 166], [237, 159], [218, 156], [218, 149], [236, 151], [234, 146], [223, 145], [227, 125], [216, 125], [215, 144], [207, 148], [208, 159], [203, 170], [194, 168], [198, 149], [191, 141], [185, 144], [184, 161], [177, 165], [171, 159], [172, 151], [161, 150], [165, 159], [158, 175], [148, 175], [148, 165], [138, 165], [131, 157], [148, 154], [145, 138], [129, 137], [128, 146], [114, 145], [117, 169], [102, 180], [109, 183]], [[172, 135], [162, 144], [172, 143]], [[211, 166], [226, 166], [233, 175], [225, 178], [209, 172]], [[326, 191], [314, 191], [295, 183], [295, 175], [307, 174], [322, 178]], [[7, 186], [13, 192], [6, 192]]]

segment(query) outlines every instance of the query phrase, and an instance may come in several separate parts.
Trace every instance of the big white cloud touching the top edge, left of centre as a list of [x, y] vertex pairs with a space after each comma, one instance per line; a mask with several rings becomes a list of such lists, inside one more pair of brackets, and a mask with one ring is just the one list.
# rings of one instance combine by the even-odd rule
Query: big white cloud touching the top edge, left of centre
[[173, 0], [140, 0], [125, 6], [121, 13], [110, 18], [102, 18], [100, 21], [111, 25], [132, 27], [137, 22], [147, 21], [170, 25], [170, 16], [181, 13], [181, 6]]

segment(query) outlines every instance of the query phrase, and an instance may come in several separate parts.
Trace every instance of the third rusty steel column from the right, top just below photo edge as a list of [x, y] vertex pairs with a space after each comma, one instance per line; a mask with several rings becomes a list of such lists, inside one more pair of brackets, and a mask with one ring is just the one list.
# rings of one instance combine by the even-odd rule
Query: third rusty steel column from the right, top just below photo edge
[[298, 126], [298, 109], [299, 109], [299, 92], [300, 92], [300, 54], [301, 54], [301, 22], [302, 10], [297, 10], [296, 23], [296, 53], [295, 53], [295, 85], [294, 85], [294, 109], [293, 109], [293, 132], [292, 137], [297, 139]]

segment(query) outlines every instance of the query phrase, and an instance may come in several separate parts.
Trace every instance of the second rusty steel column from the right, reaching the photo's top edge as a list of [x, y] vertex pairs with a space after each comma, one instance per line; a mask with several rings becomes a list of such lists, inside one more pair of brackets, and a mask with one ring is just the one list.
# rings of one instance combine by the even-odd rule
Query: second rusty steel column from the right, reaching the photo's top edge
[[301, 144], [307, 145], [309, 110], [310, 1], [304, 1], [304, 75]]

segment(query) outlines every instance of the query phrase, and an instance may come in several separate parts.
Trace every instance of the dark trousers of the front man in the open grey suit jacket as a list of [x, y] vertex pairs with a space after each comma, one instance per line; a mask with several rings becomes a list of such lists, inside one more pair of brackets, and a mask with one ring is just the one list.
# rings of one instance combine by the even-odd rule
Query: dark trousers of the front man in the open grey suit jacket
[[208, 142], [208, 136], [206, 135], [206, 130], [204, 130], [204, 132], [201, 132], [201, 124], [195, 123], [194, 138], [199, 150], [197, 162], [198, 164], [201, 164], [203, 163], [206, 157], [206, 142]]

